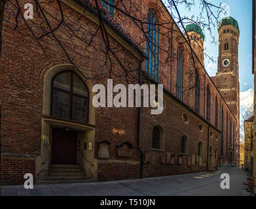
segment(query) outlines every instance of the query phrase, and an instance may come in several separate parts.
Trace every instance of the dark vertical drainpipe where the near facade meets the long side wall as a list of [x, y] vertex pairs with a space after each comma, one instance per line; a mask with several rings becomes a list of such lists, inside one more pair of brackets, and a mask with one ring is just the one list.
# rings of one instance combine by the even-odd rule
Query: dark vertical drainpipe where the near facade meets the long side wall
[[[141, 76], [142, 76], [142, 62], [139, 64], [139, 86], [141, 86]], [[141, 163], [140, 163], [140, 178], [143, 176], [143, 150], [140, 147], [140, 134], [141, 131], [141, 107], [137, 108], [137, 149], [141, 153]]]

